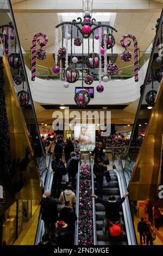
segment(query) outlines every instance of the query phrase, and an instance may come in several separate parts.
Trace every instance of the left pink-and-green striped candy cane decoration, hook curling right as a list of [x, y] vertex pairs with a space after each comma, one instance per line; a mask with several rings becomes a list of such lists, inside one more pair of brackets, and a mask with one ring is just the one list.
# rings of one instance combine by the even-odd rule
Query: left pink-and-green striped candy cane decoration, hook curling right
[[[44, 38], [44, 41], [42, 42], [41, 39], [38, 39], [40, 36]], [[35, 75], [36, 75], [36, 42], [41, 46], [45, 46], [48, 42], [48, 37], [44, 33], [36, 33], [33, 37], [32, 41], [32, 65], [31, 65], [31, 70], [32, 70], [32, 77], [31, 80], [35, 81]]]

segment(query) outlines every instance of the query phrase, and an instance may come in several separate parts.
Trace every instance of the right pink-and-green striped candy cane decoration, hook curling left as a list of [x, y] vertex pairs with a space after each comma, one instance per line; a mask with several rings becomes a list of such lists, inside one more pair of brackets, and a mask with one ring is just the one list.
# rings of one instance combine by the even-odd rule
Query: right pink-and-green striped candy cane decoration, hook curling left
[[127, 41], [126, 43], [124, 42], [124, 39], [126, 38], [131, 38], [133, 39], [133, 42], [134, 42], [134, 72], [135, 72], [135, 82], [138, 82], [139, 81], [139, 78], [138, 78], [138, 47], [137, 47], [137, 40], [135, 38], [134, 35], [130, 35], [130, 34], [127, 34], [127, 35], [123, 35], [122, 38], [121, 38], [121, 46], [126, 48], [130, 46], [130, 41]]

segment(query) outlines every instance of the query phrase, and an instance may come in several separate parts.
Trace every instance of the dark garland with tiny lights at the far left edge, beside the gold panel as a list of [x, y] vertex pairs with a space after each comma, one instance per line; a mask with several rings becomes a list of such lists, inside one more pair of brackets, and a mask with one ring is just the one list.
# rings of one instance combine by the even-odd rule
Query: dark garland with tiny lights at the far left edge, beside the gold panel
[[2, 173], [5, 175], [11, 174], [11, 155], [10, 155], [10, 140], [8, 130], [7, 107], [5, 104], [5, 94], [3, 91], [4, 74], [3, 74], [3, 57], [0, 57], [0, 139], [1, 149], [3, 152], [3, 169]]

